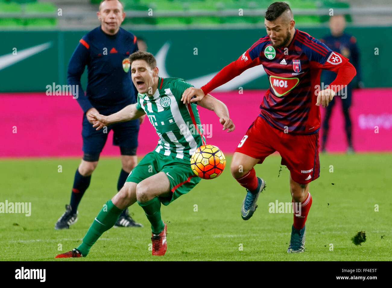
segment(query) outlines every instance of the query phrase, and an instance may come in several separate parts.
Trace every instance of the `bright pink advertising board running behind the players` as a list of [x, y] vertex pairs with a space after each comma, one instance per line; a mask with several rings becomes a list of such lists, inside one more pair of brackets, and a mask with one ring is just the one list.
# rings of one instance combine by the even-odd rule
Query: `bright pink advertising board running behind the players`
[[[199, 108], [207, 143], [218, 146], [226, 154], [234, 152], [258, 116], [264, 92], [212, 93], [226, 103], [236, 130], [231, 133], [222, 131], [215, 113]], [[327, 143], [330, 152], [344, 152], [347, 147], [340, 105], [338, 99], [330, 120]], [[323, 116], [324, 109], [320, 109]], [[2, 93], [0, 113], [0, 157], [82, 156], [82, 110], [72, 97], [46, 96], [45, 92]], [[392, 89], [354, 91], [351, 117], [353, 145], [357, 152], [392, 151]], [[154, 149], [158, 141], [154, 131], [147, 120], [141, 125], [138, 155], [143, 156]], [[119, 148], [112, 145], [112, 138], [110, 132], [102, 156], [119, 155]]]

